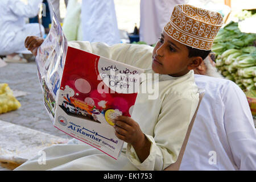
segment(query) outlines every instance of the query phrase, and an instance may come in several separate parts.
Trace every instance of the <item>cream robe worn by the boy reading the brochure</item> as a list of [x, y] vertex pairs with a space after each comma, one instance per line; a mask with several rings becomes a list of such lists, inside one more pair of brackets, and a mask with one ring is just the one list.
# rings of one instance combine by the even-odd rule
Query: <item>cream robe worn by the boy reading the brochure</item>
[[[84, 49], [100, 56], [122, 61], [141, 68], [151, 68], [152, 47], [146, 45], [69, 42], [69, 46]], [[147, 72], [152, 72], [147, 69]], [[110, 158], [88, 144], [55, 145], [44, 150], [46, 164], [41, 156], [29, 160], [17, 170], [162, 170], [174, 163], [188, 125], [199, 102], [193, 71], [181, 77], [159, 75], [159, 97], [148, 100], [148, 94], [139, 93], [133, 109], [133, 118], [151, 142], [150, 155], [143, 163], [133, 147], [125, 143], [118, 160]], [[126, 146], [127, 145], [127, 146]]]

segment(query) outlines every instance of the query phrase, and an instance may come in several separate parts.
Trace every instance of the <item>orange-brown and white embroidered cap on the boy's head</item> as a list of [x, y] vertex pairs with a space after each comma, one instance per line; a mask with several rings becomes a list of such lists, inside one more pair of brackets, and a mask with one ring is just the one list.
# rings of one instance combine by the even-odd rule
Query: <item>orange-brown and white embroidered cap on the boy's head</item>
[[208, 51], [222, 24], [220, 13], [191, 5], [176, 5], [164, 31], [181, 44]]

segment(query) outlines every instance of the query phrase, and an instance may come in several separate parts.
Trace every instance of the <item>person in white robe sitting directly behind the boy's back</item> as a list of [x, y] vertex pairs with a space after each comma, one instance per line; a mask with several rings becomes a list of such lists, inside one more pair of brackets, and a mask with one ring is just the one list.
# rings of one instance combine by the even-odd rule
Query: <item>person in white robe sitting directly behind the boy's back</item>
[[180, 170], [256, 170], [256, 130], [245, 94], [209, 56], [194, 72], [205, 95]]

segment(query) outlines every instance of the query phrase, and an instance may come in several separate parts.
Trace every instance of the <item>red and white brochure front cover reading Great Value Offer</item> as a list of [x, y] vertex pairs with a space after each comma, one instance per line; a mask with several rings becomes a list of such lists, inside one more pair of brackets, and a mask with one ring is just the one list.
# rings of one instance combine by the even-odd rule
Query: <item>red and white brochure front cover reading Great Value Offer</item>
[[68, 47], [54, 126], [117, 159], [113, 119], [131, 116], [143, 69]]

